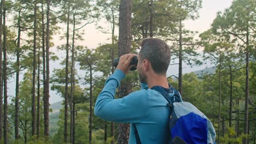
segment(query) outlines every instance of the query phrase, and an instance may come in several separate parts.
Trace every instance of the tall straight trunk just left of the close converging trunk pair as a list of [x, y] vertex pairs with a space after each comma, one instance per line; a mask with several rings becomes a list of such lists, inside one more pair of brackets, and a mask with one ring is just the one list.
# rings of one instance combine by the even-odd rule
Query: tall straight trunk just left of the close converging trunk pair
[[36, 133], [36, 40], [37, 40], [37, 1], [34, 2], [34, 40], [33, 40], [33, 82], [32, 82], [32, 136]]

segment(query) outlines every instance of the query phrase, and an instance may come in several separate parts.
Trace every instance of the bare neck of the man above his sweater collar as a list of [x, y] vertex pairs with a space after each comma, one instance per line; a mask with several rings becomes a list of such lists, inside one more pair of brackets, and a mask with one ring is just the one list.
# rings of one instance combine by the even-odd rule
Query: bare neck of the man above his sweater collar
[[153, 86], [169, 88], [166, 75], [151, 74], [147, 79], [147, 84], [149, 88], [152, 88]]

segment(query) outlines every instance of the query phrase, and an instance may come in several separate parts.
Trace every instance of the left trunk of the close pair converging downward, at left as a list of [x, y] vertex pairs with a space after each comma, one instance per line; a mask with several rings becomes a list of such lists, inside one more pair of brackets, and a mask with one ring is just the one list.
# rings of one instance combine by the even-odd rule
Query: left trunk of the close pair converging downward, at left
[[[42, 0], [41, 3], [41, 9], [42, 9], [42, 55], [43, 55], [43, 101], [44, 101], [44, 113], [45, 113], [45, 110], [46, 110], [46, 101], [45, 101], [45, 98], [46, 98], [46, 95], [45, 95], [45, 26], [44, 26], [44, 1]], [[44, 120], [46, 118], [46, 115], [44, 114]], [[45, 121], [44, 121], [45, 122]], [[45, 123], [44, 123], [45, 125]], [[44, 131], [44, 135], [45, 135], [45, 131]]]

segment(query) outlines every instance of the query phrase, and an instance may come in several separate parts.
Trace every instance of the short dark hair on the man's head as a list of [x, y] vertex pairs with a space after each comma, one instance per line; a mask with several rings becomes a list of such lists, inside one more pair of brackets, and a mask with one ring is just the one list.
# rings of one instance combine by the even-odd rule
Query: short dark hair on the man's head
[[166, 74], [171, 61], [171, 50], [161, 39], [145, 38], [141, 41], [139, 56], [141, 61], [148, 59], [155, 73]]

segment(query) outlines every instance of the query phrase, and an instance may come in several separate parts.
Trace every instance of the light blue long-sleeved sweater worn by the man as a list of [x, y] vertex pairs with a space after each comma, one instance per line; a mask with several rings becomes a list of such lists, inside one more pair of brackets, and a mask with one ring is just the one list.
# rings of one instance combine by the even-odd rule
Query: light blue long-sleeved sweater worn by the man
[[168, 129], [169, 107], [166, 99], [146, 83], [141, 83], [141, 90], [132, 92], [121, 99], [114, 99], [115, 90], [125, 77], [117, 69], [105, 83], [96, 100], [96, 116], [112, 122], [131, 123], [129, 143], [136, 143], [135, 126], [142, 143], [167, 143], [170, 139]]

